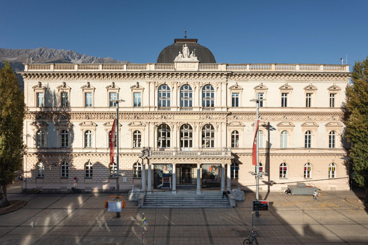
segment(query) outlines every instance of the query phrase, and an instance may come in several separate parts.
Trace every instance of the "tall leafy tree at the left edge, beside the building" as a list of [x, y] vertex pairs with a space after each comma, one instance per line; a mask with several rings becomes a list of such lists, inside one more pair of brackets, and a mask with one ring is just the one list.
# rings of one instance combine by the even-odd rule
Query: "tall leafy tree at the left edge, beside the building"
[[20, 169], [24, 144], [22, 140], [25, 99], [19, 89], [11, 64], [0, 69], [0, 207], [9, 205], [7, 186]]

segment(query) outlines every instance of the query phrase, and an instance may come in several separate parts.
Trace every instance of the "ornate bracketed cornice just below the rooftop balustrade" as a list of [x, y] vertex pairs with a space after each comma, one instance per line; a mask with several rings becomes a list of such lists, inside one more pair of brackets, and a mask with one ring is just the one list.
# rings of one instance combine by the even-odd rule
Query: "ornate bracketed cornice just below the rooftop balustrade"
[[21, 73], [25, 80], [350, 80], [350, 73], [252, 71], [65, 71]]

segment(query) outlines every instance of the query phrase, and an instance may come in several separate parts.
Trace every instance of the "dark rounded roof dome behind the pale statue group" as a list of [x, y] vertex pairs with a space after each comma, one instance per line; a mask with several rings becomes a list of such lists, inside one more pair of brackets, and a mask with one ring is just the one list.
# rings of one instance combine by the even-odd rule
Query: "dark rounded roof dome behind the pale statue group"
[[212, 52], [205, 46], [197, 43], [197, 41], [198, 39], [176, 38], [175, 43], [161, 51], [160, 55], [158, 55], [157, 63], [174, 63], [174, 59], [179, 55], [179, 51], [182, 52], [184, 44], [188, 46], [189, 52], [194, 51], [200, 63], [216, 63]]

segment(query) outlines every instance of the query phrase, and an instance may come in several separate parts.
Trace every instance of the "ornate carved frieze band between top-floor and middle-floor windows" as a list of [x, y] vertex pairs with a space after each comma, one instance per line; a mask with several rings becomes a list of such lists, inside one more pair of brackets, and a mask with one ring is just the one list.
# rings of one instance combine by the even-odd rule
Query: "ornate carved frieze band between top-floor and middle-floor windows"
[[[27, 112], [25, 114], [25, 120], [38, 120], [38, 121], [65, 121], [65, 120], [114, 120], [116, 113], [114, 112]], [[221, 112], [221, 111], [205, 111], [205, 112], [170, 112], [166, 111], [163, 118], [161, 111], [156, 112], [121, 112], [119, 114], [119, 120], [127, 121], [157, 121], [157, 122], [186, 122], [189, 121], [254, 121], [255, 113], [247, 112]], [[287, 113], [287, 112], [275, 112], [275, 113], [259, 113], [259, 118], [263, 121], [288, 121], [288, 122], [308, 122], [308, 121], [326, 121], [326, 122], [340, 122], [343, 117], [343, 112], [320, 112], [310, 113]]]

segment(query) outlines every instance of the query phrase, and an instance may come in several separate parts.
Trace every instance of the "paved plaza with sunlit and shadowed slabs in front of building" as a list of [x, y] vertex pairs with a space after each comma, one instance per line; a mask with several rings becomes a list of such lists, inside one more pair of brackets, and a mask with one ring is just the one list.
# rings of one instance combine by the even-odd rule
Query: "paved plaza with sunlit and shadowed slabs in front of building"
[[[9, 189], [10, 192], [12, 189]], [[15, 189], [14, 189], [15, 190]], [[364, 193], [292, 196], [261, 193], [269, 211], [254, 216], [259, 244], [368, 244]], [[27, 205], [0, 216], [0, 244], [243, 244], [252, 228], [254, 193], [228, 209], [139, 209], [126, 202], [121, 218], [104, 209], [107, 193], [9, 194]], [[128, 200], [128, 193], [122, 193]]]

